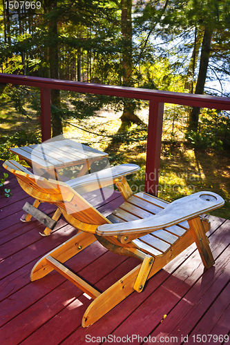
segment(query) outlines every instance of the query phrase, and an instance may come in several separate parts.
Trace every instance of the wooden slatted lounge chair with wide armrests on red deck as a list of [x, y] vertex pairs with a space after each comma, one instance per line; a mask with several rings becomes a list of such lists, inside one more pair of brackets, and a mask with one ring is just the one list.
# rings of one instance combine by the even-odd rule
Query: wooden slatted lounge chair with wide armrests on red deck
[[[36, 181], [26, 172], [17, 172], [21, 187], [29, 195], [34, 197], [37, 193], [35, 190], [39, 190], [42, 200], [56, 204], [66, 220], [79, 230], [77, 235], [35, 264], [31, 280], [40, 279], [55, 269], [92, 297], [94, 301], [88, 306], [82, 319], [84, 327], [96, 322], [134, 290], [142, 292], [147, 279], [193, 242], [198, 246], [205, 268], [214, 264], [209, 240], [205, 235], [209, 230], [209, 222], [200, 215], [221, 207], [224, 204], [222, 197], [211, 192], [200, 192], [169, 204], [146, 193], [133, 195], [124, 177], [126, 170], [132, 169], [137, 170], [137, 166], [128, 164], [113, 167], [109, 174], [102, 172], [99, 183], [96, 176], [90, 175], [90, 182], [85, 177], [61, 183], [46, 179]], [[76, 190], [108, 186], [111, 184], [108, 175], [113, 176], [114, 183], [124, 197], [124, 203], [111, 215], [104, 217]], [[30, 180], [30, 188], [26, 179]], [[108, 250], [137, 257], [141, 261], [141, 264], [103, 293], [64, 266], [64, 262], [84, 250], [95, 239]]]

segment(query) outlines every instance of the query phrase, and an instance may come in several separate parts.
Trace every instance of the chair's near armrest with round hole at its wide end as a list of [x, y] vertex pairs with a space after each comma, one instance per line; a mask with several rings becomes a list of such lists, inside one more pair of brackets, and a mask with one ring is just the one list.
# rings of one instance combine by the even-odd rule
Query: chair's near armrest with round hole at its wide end
[[224, 199], [212, 192], [199, 192], [173, 201], [164, 210], [145, 219], [128, 221], [120, 224], [98, 226], [96, 233], [101, 236], [131, 235], [152, 233], [155, 230], [173, 226], [202, 213], [224, 205]]

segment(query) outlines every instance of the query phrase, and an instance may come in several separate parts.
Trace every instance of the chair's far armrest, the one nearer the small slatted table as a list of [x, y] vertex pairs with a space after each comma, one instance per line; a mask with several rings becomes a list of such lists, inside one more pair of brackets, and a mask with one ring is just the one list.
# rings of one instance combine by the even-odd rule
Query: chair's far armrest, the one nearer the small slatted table
[[133, 172], [137, 172], [138, 170], [140, 170], [140, 167], [136, 164], [121, 164], [119, 166], [113, 166], [112, 168], [93, 172], [89, 175], [77, 177], [76, 179], [70, 179], [66, 181], [66, 184], [74, 190], [77, 190], [77, 193], [81, 194], [110, 186], [114, 183], [115, 179], [133, 174]]

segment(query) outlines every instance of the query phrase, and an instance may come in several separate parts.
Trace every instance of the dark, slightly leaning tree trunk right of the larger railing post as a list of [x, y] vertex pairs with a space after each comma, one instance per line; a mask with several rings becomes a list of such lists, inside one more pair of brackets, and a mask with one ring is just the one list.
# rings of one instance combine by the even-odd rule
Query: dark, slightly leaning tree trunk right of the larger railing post
[[[207, 69], [209, 65], [209, 57], [211, 53], [211, 41], [213, 37], [213, 29], [205, 28], [202, 41], [202, 50], [200, 55], [200, 68], [198, 74], [198, 82], [195, 87], [195, 94], [202, 95], [204, 92], [204, 84], [207, 77]], [[198, 131], [198, 121], [200, 108], [193, 107], [189, 114], [189, 130]]]

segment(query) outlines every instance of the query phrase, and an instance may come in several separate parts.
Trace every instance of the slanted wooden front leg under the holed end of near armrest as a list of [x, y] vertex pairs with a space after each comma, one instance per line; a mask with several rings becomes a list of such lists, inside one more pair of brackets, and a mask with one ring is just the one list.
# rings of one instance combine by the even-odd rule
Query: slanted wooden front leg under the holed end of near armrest
[[209, 239], [205, 234], [204, 226], [200, 217], [195, 217], [189, 220], [189, 226], [195, 239], [195, 244], [198, 247], [200, 257], [205, 268], [210, 268], [215, 263], [211, 248], [209, 246]]

